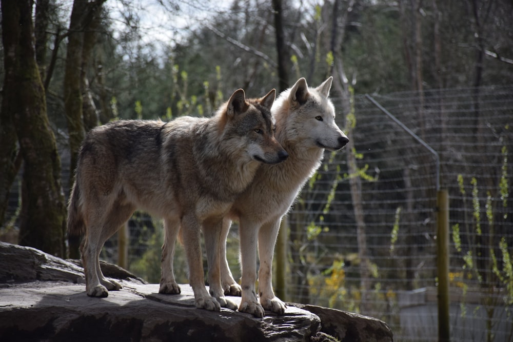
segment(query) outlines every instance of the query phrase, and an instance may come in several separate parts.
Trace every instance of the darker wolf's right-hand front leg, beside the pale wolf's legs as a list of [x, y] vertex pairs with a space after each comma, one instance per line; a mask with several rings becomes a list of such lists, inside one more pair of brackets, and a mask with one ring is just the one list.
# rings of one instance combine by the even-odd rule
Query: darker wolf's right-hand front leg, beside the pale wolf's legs
[[237, 305], [231, 300], [226, 299], [225, 292], [221, 285], [220, 274], [220, 245], [223, 244], [222, 220], [213, 223], [204, 223], [203, 235], [205, 237], [205, 249], [207, 250], [208, 260], [208, 283], [210, 285], [210, 295], [219, 301], [223, 308], [237, 310]]

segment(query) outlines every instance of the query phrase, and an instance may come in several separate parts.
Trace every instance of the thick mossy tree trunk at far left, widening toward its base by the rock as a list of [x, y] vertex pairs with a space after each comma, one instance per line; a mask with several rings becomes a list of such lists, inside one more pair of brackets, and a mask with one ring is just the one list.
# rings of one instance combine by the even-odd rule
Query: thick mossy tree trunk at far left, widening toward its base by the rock
[[6, 82], [4, 99], [13, 117], [24, 160], [19, 243], [65, 256], [66, 207], [61, 160], [46, 115], [43, 84], [35, 61], [30, 0], [2, 0]]

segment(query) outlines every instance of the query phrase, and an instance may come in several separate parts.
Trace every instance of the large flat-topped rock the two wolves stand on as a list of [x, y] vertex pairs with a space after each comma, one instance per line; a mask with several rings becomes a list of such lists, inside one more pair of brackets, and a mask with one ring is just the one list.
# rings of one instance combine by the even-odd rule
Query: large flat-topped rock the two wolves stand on
[[119, 267], [104, 263], [102, 270], [123, 289], [91, 298], [75, 261], [0, 243], [0, 340], [392, 341], [386, 324], [370, 317], [295, 304], [261, 319], [199, 310], [188, 285], [180, 295], [163, 295]]

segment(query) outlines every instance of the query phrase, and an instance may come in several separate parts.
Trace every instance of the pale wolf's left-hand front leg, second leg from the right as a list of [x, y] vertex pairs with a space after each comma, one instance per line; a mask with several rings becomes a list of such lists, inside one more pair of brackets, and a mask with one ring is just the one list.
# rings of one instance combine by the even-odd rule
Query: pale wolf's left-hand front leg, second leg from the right
[[257, 231], [258, 226], [240, 218], [241, 264], [242, 264], [242, 298], [239, 311], [255, 317], [264, 317], [264, 308], [258, 302], [255, 292], [257, 281]]

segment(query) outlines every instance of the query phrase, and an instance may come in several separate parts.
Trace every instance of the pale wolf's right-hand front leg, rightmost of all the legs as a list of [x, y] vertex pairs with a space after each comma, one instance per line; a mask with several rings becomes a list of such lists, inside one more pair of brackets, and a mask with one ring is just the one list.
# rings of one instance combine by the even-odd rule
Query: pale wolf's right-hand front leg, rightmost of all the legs
[[258, 246], [260, 256], [260, 270], [259, 270], [259, 292], [260, 304], [266, 310], [272, 311], [277, 314], [285, 312], [286, 305], [277, 296], [274, 295], [272, 290], [272, 255], [274, 252], [274, 245], [280, 230], [281, 218], [275, 219], [270, 223], [262, 226], [259, 232]]

